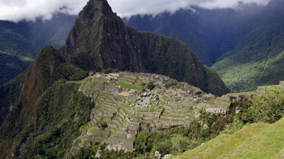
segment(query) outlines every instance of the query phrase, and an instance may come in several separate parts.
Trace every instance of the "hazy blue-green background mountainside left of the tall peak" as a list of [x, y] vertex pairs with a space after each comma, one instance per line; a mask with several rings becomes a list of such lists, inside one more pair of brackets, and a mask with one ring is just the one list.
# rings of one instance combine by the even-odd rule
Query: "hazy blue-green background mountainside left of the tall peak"
[[[59, 48], [65, 39], [76, 16], [56, 14], [51, 20], [42, 21], [0, 21], [0, 84], [15, 78], [32, 63], [36, 53], [45, 45]], [[5, 58], [5, 60], [4, 60]]]

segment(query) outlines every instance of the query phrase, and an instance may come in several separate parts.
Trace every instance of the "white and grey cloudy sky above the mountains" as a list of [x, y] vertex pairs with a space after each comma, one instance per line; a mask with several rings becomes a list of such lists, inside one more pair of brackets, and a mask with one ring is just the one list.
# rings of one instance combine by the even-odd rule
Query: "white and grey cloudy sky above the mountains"
[[[33, 21], [37, 17], [52, 18], [53, 13], [77, 15], [88, 0], [0, 0], [0, 20]], [[266, 5], [270, 0], [108, 0], [120, 17], [136, 14], [175, 12], [179, 8], [198, 5], [207, 9], [237, 8], [238, 4]]]

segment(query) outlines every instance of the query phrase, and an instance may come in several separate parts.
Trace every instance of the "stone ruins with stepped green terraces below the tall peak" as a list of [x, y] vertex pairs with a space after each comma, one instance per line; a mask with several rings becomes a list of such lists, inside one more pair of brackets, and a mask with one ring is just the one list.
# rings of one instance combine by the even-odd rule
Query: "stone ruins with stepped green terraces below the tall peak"
[[[155, 88], [149, 90], [151, 81]], [[79, 83], [79, 91], [91, 97], [95, 107], [91, 121], [80, 128], [82, 134], [74, 141], [74, 147], [103, 142], [108, 149], [133, 151], [140, 131], [189, 124], [199, 116], [199, 109], [225, 114], [229, 103], [209, 104], [207, 101], [214, 101], [214, 95], [185, 82], [148, 73], [97, 73]]]

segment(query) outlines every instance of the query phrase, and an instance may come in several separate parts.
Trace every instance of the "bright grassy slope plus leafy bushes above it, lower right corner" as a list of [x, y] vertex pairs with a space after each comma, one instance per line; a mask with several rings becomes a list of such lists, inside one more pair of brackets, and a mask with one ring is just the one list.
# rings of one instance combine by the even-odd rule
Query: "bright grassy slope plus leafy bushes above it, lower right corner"
[[[273, 89], [251, 100], [235, 101], [230, 105], [230, 109], [234, 110], [235, 106], [241, 106], [241, 110], [238, 114], [231, 113], [227, 116], [229, 126], [221, 132], [222, 135], [173, 158], [281, 156], [284, 146], [284, 89]], [[269, 125], [262, 122], [276, 123]]]

